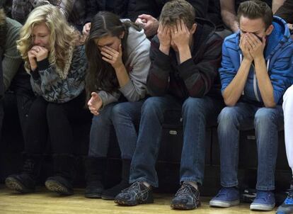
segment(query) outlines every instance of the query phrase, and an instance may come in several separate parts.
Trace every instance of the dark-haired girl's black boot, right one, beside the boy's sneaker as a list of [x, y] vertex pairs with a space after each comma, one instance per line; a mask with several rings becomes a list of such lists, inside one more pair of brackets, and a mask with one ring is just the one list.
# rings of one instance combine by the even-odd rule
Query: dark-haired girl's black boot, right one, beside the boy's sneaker
[[105, 200], [114, 200], [117, 194], [119, 194], [123, 189], [130, 186], [130, 159], [122, 159], [122, 173], [121, 173], [121, 181], [116, 186], [112, 188], [108, 188], [103, 191], [102, 198]]

